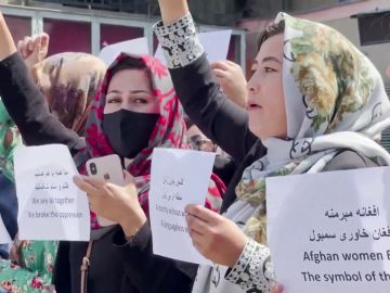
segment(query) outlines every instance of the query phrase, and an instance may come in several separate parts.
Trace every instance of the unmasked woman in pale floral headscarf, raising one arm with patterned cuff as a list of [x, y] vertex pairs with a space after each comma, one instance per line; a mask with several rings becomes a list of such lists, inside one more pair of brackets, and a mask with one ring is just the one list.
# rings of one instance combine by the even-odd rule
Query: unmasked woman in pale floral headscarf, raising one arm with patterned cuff
[[[164, 24], [155, 30], [184, 110], [243, 162], [240, 179], [227, 187], [224, 217], [187, 207], [193, 243], [216, 264], [199, 267], [193, 292], [269, 292], [275, 275], [266, 247], [265, 178], [389, 165], [390, 155], [375, 142], [390, 124], [382, 80], [336, 30], [280, 14], [261, 38], [245, 112], [213, 81], [186, 1], [159, 3]], [[268, 154], [250, 162], [248, 152], [264, 152], [256, 139]]]

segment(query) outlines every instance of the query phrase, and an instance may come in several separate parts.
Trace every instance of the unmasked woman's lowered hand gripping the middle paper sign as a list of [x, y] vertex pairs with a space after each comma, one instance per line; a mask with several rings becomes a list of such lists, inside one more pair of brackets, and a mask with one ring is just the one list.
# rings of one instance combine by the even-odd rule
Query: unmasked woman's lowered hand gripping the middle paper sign
[[194, 246], [213, 263], [233, 267], [240, 256], [247, 237], [230, 219], [200, 205], [185, 208], [188, 232]]

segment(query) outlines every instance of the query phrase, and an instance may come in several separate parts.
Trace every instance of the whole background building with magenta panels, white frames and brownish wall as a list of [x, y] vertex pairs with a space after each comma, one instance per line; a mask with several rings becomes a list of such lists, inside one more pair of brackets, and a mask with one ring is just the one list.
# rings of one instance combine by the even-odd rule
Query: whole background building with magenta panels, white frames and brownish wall
[[[233, 27], [229, 59], [247, 68], [258, 35], [277, 12], [325, 23], [346, 35], [377, 66], [390, 92], [390, 0], [188, 0], [203, 31]], [[0, 0], [14, 39], [47, 31], [50, 54], [99, 53], [110, 43], [146, 37], [157, 48], [152, 25], [157, 0]], [[390, 150], [390, 129], [385, 142]]]

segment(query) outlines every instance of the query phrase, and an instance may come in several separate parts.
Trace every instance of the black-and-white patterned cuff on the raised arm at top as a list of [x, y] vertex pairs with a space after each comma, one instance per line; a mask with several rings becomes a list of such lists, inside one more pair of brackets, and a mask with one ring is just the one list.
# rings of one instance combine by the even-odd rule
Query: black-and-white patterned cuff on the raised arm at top
[[191, 14], [169, 25], [158, 22], [154, 30], [169, 68], [184, 67], [204, 52]]

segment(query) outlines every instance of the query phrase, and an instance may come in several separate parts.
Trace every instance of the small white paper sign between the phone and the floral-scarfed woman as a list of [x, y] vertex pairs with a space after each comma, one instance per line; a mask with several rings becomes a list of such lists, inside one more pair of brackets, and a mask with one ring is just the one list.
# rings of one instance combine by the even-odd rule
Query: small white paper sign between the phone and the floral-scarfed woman
[[184, 207], [205, 204], [214, 157], [214, 153], [154, 149], [150, 190], [154, 254], [211, 264], [192, 244]]

